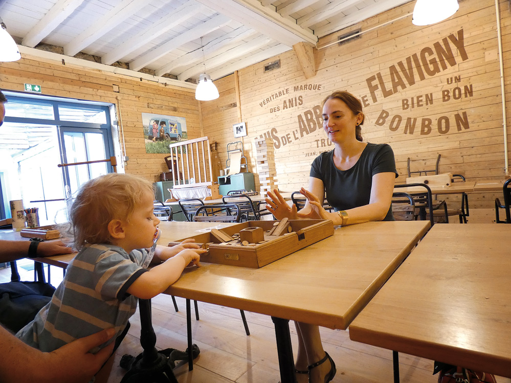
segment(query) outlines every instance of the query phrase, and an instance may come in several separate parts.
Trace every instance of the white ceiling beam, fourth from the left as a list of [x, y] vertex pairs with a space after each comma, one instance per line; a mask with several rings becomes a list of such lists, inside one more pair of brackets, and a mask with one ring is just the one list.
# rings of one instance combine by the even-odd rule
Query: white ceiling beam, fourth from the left
[[158, 60], [160, 57], [164, 56], [170, 51], [178, 47], [181, 47], [184, 43], [195, 40], [199, 37], [208, 34], [209, 32], [221, 28], [222, 26], [226, 25], [229, 21], [230, 21], [229, 17], [224, 15], [217, 15], [209, 19], [208, 21], [203, 22], [197, 27], [192, 28], [186, 31], [185, 33], [182, 33], [179, 36], [167, 41], [160, 47], [153, 49], [152, 51], [148, 52], [147, 54], [144, 54], [138, 59], [131, 61], [129, 63], [129, 69], [132, 71], [138, 71], [147, 64], [155, 60]]

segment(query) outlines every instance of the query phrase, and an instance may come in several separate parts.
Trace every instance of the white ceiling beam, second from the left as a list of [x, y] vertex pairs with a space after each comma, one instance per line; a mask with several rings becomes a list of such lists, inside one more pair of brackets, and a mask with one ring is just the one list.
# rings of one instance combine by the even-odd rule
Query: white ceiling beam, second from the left
[[90, 46], [108, 31], [117, 27], [121, 22], [145, 7], [146, 2], [140, 0], [122, 0], [118, 6], [112, 8], [92, 26], [80, 33], [74, 40], [64, 46], [67, 56], [74, 56], [82, 49]]

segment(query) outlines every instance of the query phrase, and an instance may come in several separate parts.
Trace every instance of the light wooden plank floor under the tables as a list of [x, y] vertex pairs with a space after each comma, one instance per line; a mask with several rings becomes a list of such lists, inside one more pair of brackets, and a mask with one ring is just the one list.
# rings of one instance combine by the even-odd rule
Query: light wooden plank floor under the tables
[[[33, 272], [18, 267], [22, 280], [33, 280]], [[59, 283], [62, 272], [52, 267], [52, 284]], [[0, 282], [8, 281], [10, 270], [0, 269]], [[176, 298], [180, 311], [175, 312], [169, 296], [152, 300], [152, 321], [157, 333], [157, 347], [185, 350], [185, 300]], [[201, 349], [194, 361], [193, 371], [181, 363], [174, 373], [180, 383], [277, 383], [279, 379], [275, 330], [269, 317], [246, 312], [250, 336], [245, 334], [239, 310], [198, 302], [200, 320], [196, 321], [192, 308], [193, 342]], [[131, 328], [116, 353], [116, 362], [108, 383], [121, 381], [125, 371], [119, 360], [125, 353], [138, 355], [140, 321], [138, 311], [130, 319]], [[296, 352], [296, 334], [291, 325], [293, 348]], [[381, 383], [393, 381], [392, 352], [352, 342], [348, 331], [321, 329], [324, 348], [337, 364], [334, 383]], [[296, 355], [296, 354], [295, 354]], [[423, 383], [437, 381], [432, 375], [433, 362], [411, 355], [399, 354], [401, 382]], [[498, 383], [508, 383], [498, 378]]]

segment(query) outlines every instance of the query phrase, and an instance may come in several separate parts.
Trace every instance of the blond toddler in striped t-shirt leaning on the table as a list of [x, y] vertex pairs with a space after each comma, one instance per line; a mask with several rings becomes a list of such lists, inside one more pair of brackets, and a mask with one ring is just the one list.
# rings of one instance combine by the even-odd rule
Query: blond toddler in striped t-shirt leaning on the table
[[[199, 254], [205, 250], [192, 240], [148, 250], [157, 239], [160, 222], [153, 214], [153, 195], [149, 181], [129, 174], [106, 174], [80, 188], [69, 226], [79, 253], [69, 263], [52, 301], [16, 336], [50, 352], [114, 327], [118, 345], [137, 308], [137, 298], [157, 296], [188, 264], [198, 265]], [[155, 266], [147, 269], [149, 264]]]

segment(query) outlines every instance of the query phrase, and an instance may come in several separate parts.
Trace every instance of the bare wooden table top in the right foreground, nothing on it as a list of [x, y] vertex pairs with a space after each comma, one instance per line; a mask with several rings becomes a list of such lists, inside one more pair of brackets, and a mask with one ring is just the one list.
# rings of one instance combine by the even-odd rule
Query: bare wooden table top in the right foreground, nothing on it
[[350, 338], [511, 377], [510, 238], [506, 224], [436, 224]]

